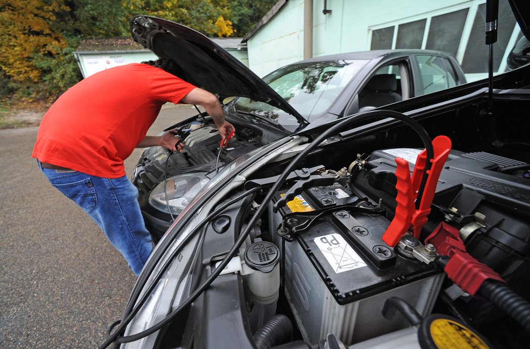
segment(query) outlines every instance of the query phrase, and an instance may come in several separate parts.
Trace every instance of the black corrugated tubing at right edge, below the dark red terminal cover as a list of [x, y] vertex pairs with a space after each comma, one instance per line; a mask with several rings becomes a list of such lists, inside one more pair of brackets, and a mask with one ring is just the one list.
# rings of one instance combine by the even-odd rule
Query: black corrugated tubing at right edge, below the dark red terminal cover
[[480, 294], [491, 300], [530, 332], [530, 303], [500, 281], [486, 280], [480, 287]]

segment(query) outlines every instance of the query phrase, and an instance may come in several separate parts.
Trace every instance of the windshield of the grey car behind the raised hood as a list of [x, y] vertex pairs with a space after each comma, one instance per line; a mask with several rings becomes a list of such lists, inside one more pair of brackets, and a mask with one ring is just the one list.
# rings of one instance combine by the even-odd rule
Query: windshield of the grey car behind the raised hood
[[[263, 80], [307, 121], [321, 117], [368, 62], [364, 59], [329, 60], [293, 64], [280, 68]], [[298, 126], [296, 118], [264, 102], [238, 98], [234, 107], [275, 121], [288, 130]]]

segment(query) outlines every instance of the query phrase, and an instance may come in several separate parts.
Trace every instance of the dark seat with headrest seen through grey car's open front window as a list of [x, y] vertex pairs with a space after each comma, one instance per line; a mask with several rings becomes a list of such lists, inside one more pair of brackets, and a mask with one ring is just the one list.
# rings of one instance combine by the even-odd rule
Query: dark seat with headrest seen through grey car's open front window
[[401, 95], [396, 93], [398, 80], [395, 74], [374, 75], [363, 90], [367, 90], [359, 103], [363, 110], [401, 101]]

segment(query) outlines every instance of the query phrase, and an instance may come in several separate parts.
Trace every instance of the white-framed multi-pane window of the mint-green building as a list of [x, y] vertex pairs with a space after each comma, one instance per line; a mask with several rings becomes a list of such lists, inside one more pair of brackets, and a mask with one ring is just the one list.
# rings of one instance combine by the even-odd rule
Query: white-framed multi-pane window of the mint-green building
[[[466, 7], [453, 7], [450, 12], [437, 10], [425, 19], [411, 22], [395, 21], [384, 28], [369, 28], [370, 49], [429, 49], [452, 53], [460, 62], [470, 81], [488, 73], [489, 48], [484, 39], [485, 7], [483, 0]], [[520, 30], [510, 4], [499, 2], [498, 39], [493, 48], [493, 71], [506, 69], [505, 56], [515, 44]], [[517, 29], [517, 31], [515, 31]]]

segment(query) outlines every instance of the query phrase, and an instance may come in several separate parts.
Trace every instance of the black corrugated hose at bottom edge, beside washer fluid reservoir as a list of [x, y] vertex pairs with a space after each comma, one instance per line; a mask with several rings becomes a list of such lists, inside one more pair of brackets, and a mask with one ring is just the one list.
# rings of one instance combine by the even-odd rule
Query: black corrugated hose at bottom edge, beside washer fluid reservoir
[[261, 327], [254, 335], [254, 342], [258, 349], [270, 347], [291, 341], [293, 324], [285, 315], [277, 314]]

